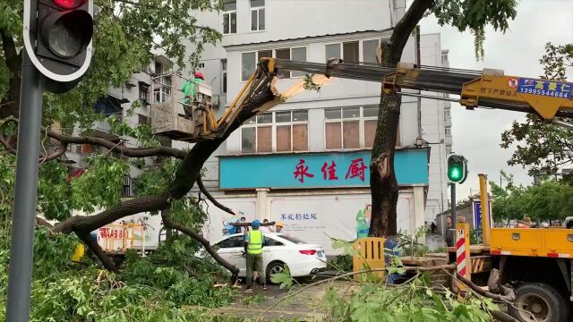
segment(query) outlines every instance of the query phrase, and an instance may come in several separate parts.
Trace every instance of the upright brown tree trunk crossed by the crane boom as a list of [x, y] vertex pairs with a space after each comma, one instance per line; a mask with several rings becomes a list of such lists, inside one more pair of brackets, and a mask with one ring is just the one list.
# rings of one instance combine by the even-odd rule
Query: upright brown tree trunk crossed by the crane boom
[[[394, 28], [389, 42], [381, 45], [383, 65], [396, 66], [400, 62], [408, 38], [422, 19], [423, 13], [431, 6], [431, 0], [415, 0], [410, 5]], [[369, 235], [372, 237], [385, 236], [395, 239], [398, 235], [396, 210], [399, 186], [394, 172], [394, 151], [400, 120], [400, 103], [399, 95], [382, 91], [370, 164], [372, 218]]]

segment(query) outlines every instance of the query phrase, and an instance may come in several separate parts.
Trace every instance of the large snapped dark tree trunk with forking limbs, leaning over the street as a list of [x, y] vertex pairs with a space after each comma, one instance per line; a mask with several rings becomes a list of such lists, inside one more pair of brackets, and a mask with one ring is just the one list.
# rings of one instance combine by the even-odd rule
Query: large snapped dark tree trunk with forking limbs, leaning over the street
[[[235, 121], [227, 127], [227, 131], [219, 138], [214, 140], [202, 140], [196, 143], [188, 152], [177, 150], [175, 148], [125, 148], [116, 147], [116, 144], [100, 138], [90, 137], [68, 137], [54, 131], [48, 131], [47, 135], [53, 139], [60, 140], [64, 143], [90, 143], [100, 144], [106, 148], [118, 148], [119, 152], [128, 157], [150, 157], [152, 155], [164, 155], [168, 157], [183, 158], [177, 165], [175, 171], [175, 178], [172, 180], [169, 188], [165, 194], [143, 196], [135, 199], [126, 200], [115, 207], [108, 208], [105, 211], [93, 216], [73, 216], [61, 223], [54, 226], [52, 231], [54, 233], [76, 233], [78, 236], [83, 236], [85, 242], [90, 242], [90, 238], [86, 237], [90, 232], [98, 229], [101, 226], [111, 224], [124, 216], [134, 215], [141, 212], [159, 211], [169, 206], [171, 200], [181, 199], [192, 189], [192, 186], [197, 180], [201, 172], [201, 168], [210, 155], [219, 147], [219, 145], [227, 140], [231, 132], [238, 129], [244, 121], [251, 118], [256, 114], [255, 110], [265, 103], [273, 101], [275, 95], [271, 89], [271, 82], [274, 74], [266, 74], [256, 90], [246, 99], [242, 105], [241, 112], [235, 118]], [[113, 144], [113, 146], [112, 146]], [[153, 151], [152, 153], [150, 151]], [[238, 269], [227, 263], [223, 258], [218, 256], [217, 252], [210, 247], [210, 243], [201, 236], [201, 234], [194, 232], [189, 227], [180, 225], [171, 220], [167, 211], [162, 212], [164, 225], [186, 233], [198, 242], [201, 242], [205, 249], [208, 250], [210, 255], [215, 258], [219, 264], [226, 267], [232, 272], [232, 278], [235, 279], [238, 274]], [[93, 242], [93, 241], [91, 241]], [[92, 245], [95, 253], [98, 254], [98, 248]], [[106, 257], [101, 257], [105, 258]], [[100, 259], [101, 259], [100, 258]], [[104, 262], [104, 265], [113, 270], [114, 267], [111, 262]]]

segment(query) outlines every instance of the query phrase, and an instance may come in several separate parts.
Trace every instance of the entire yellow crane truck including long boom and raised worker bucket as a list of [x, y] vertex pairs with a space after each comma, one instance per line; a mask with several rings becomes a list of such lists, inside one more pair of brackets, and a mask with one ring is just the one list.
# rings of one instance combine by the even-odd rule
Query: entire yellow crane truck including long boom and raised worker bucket
[[[415, 64], [345, 64], [339, 58], [331, 58], [326, 64], [262, 58], [256, 72], [222, 117], [215, 116], [209, 86], [201, 85], [192, 97], [191, 118], [183, 114], [182, 99], [152, 105], [152, 131], [187, 142], [221, 136], [241, 111], [245, 97], [252, 95], [257, 80], [263, 75], [276, 76], [278, 70], [381, 82], [386, 93], [453, 100], [470, 110], [487, 107], [533, 113], [548, 122], [573, 128], [571, 123], [556, 119], [573, 117], [573, 83], [569, 82], [509, 76], [491, 69], [479, 72]], [[458, 95], [459, 98], [426, 96], [403, 89]], [[485, 184], [484, 179], [482, 183]], [[482, 192], [487, 195], [485, 190]], [[488, 205], [487, 200], [482, 205]], [[482, 214], [488, 213], [482, 211]], [[489, 223], [487, 219], [483, 218], [482, 222]], [[573, 301], [573, 230], [491, 228], [488, 224], [483, 225], [483, 240], [483, 245], [475, 245], [471, 250], [473, 280], [483, 280], [483, 275], [497, 268], [501, 283], [516, 288], [516, 303], [509, 308], [514, 318], [523, 322], [569, 321]], [[451, 251], [455, 257], [455, 250]]]

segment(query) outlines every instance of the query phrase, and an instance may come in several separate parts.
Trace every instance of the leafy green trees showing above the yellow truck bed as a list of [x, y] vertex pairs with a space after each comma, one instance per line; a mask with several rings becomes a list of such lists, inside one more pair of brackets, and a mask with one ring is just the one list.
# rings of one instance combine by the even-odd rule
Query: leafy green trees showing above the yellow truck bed
[[573, 207], [573, 187], [552, 180], [539, 185], [524, 187], [516, 185], [513, 176], [501, 172], [508, 182], [500, 187], [495, 182], [492, 186], [492, 216], [497, 221], [523, 219], [530, 217], [540, 221], [562, 220], [571, 216]]

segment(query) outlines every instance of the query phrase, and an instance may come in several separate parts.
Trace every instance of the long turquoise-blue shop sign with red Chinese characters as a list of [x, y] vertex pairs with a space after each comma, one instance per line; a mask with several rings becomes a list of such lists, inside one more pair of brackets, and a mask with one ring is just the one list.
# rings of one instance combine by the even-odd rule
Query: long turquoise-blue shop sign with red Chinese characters
[[[219, 187], [368, 187], [371, 154], [363, 150], [219, 157]], [[428, 184], [429, 154], [425, 148], [397, 150], [394, 165], [398, 184]]]

